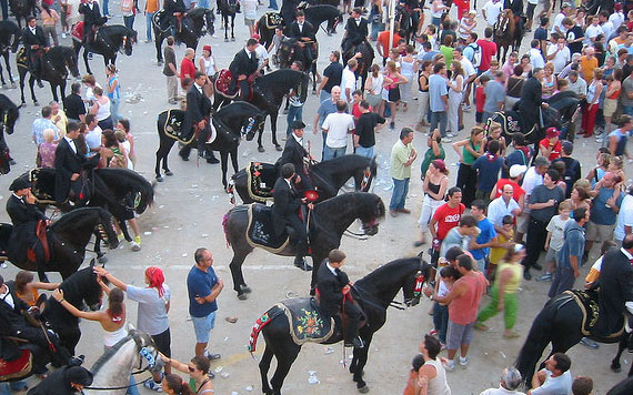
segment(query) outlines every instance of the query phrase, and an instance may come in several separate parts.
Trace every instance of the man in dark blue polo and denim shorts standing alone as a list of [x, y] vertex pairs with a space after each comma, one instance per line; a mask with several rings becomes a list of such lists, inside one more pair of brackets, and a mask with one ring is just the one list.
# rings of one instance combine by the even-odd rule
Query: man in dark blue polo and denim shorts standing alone
[[189, 314], [195, 331], [195, 356], [204, 355], [209, 359], [220, 358], [220, 354], [210, 354], [207, 351], [209, 334], [215, 325], [218, 311], [218, 295], [222, 292], [224, 283], [218, 278], [213, 271], [213, 255], [207, 249], [198, 249], [193, 254], [195, 265], [187, 276], [187, 291], [189, 293]]

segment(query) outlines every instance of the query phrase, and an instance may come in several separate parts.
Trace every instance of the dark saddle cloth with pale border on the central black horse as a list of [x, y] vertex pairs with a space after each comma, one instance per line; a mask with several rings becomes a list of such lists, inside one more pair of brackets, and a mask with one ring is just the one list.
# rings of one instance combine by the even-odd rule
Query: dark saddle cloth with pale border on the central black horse
[[260, 203], [249, 204], [248, 207], [247, 242], [253, 247], [260, 246], [272, 253], [283, 251], [290, 243], [290, 237], [285, 232], [281, 236], [274, 233], [272, 207]]

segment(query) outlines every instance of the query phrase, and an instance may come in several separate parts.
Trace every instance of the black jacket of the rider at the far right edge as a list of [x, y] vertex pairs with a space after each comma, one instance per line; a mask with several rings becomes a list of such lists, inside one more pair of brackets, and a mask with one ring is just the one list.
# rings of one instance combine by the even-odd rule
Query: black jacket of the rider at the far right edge
[[622, 251], [609, 252], [602, 259], [599, 286], [596, 333], [610, 335], [622, 328], [624, 304], [633, 302], [633, 267]]

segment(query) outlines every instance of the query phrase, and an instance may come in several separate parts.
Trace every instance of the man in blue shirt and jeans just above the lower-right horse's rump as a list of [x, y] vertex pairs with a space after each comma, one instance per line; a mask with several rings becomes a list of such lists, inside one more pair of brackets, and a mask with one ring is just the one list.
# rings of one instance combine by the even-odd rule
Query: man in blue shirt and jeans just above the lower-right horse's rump
[[547, 296], [554, 297], [574, 286], [580, 275], [580, 263], [584, 250], [584, 224], [589, 221], [589, 211], [585, 207], [574, 210], [574, 221], [565, 224], [565, 242], [559, 252], [556, 273]]

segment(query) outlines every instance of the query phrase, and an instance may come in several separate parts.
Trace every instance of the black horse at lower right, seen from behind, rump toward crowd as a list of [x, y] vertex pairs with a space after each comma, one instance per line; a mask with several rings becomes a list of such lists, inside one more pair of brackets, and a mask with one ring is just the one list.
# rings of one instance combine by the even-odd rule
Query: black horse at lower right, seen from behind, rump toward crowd
[[[530, 385], [530, 381], [534, 375], [534, 367], [547, 344], [552, 343], [552, 351], [547, 358], [554, 353], [564, 353], [574, 345], [576, 345], [583, 337], [581, 327], [583, 325], [583, 312], [576, 303], [576, 300], [569, 292], [564, 292], [557, 296], [552, 297], [539, 315], [534, 318], [525, 344], [521, 347], [519, 356], [516, 357], [515, 366], [521, 372], [521, 377]], [[613, 337], [596, 337], [587, 336], [601, 343], [620, 343], [620, 348], [623, 350], [627, 343], [627, 335], [624, 331], [620, 336]], [[612, 362], [612, 369], [620, 367], [620, 352]], [[542, 368], [544, 363], [541, 363], [539, 368]], [[629, 372], [633, 374], [633, 366]]]

